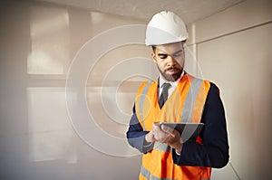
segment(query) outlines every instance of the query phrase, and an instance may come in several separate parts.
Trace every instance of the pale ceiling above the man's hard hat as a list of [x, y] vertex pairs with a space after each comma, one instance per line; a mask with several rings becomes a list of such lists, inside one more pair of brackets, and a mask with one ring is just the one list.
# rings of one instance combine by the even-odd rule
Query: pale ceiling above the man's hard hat
[[150, 20], [153, 14], [170, 10], [190, 24], [245, 0], [36, 0], [72, 5], [106, 14]]

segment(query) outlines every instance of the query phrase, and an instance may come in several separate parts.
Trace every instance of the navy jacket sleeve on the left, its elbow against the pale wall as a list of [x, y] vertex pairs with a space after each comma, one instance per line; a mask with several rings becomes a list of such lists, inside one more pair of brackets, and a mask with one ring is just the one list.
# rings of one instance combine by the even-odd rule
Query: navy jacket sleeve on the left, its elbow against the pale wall
[[135, 113], [135, 105], [133, 107], [133, 115], [130, 121], [130, 127], [127, 131], [127, 139], [131, 145], [131, 147], [137, 148], [141, 153], [146, 154], [147, 152], [151, 151], [154, 144], [148, 144], [145, 141], [145, 135], [148, 131], [144, 131], [141, 128], [141, 124], [136, 116]]

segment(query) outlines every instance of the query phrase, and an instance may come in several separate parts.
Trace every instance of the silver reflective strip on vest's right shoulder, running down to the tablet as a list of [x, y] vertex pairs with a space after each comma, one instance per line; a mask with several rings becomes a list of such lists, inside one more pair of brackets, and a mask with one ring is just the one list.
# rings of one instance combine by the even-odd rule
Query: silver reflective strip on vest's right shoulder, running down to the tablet
[[181, 113], [181, 119], [180, 122], [190, 122], [190, 118], [192, 115], [192, 110], [194, 108], [194, 103], [197, 99], [197, 96], [199, 94], [199, 88], [201, 86], [202, 80], [199, 80], [195, 78], [189, 87], [189, 91], [187, 94], [187, 97], [185, 99], [182, 113]]

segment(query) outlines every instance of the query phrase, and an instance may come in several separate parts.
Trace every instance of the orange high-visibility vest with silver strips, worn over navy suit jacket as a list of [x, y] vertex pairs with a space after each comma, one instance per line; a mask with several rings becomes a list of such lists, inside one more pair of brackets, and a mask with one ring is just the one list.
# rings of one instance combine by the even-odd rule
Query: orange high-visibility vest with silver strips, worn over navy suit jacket
[[[143, 82], [135, 100], [136, 116], [141, 127], [150, 131], [155, 121], [199, 123], [209, 87], [209, 81], [185, 74], [160, 109], [158, 81]], [[200, 137], [197, 142], [201, 143]], [[142, 156], [139, 179], [199, 180], [209, 179], [210, 174], [210, 167], [175, 165], [171, 147], [156, 142], [153, 149]]]

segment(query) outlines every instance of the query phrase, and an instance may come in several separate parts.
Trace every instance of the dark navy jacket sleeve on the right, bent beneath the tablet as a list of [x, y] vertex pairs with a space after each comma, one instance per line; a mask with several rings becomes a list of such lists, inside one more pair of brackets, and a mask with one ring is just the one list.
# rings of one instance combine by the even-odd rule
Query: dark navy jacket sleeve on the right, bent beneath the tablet
[[200, 132], [202, 144], [185, 142], [180, 156], [173, 149], [173, 161], [180, 166], [209, 166], [220, 168], [228, 164], [228, 133], [225, 111], [219, 97], [219, 89], [211, 84], [205, 102]]

